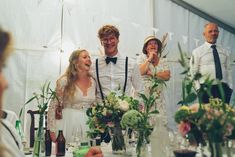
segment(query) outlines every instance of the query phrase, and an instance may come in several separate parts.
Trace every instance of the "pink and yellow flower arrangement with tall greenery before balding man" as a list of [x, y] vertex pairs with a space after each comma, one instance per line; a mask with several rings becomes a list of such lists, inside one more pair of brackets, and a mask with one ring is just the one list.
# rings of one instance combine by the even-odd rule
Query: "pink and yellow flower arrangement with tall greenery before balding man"
[[[179, 63], [184, 68], [181, 73], [185, 75], [182, 81], [182, 100], [178, 103], [181, 107], [175, 113], [175, 121], [181, 135], [189, 140], [190, 144], [206, 146], [209, 144], [211, 157], [222, 156], [219, 144], [229, 139], [235, 139], [235, 108], [225, 104], [223, 100], [211, 97], [208, 104], [192, 104], [200, 97], [194, 88], [194, 81], [202, 77], [201, 74], [190, 76], [188, 58], [181, 50]], [[205, 84], [211, 87], [214, 80], [207, 78]], [[210, 95], [207, 89], [205, 92]], [[214, 148], [213, 145], [216, 145]]]

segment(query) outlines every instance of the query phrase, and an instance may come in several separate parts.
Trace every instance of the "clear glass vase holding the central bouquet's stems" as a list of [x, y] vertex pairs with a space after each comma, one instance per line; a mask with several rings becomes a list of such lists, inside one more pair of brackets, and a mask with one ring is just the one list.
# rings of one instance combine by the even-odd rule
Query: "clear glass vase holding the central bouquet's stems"
[[125, 140], [120, 122], [115, 122], [112, 132], [112, 151], [114, 154], [123, 154], [125, 149]]

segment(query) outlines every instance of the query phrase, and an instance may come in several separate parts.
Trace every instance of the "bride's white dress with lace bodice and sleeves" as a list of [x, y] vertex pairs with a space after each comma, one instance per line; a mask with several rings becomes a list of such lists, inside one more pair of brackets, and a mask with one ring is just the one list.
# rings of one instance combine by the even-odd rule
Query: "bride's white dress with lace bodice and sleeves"
[[[72, 142], [73, 136], [85, 137], [86, 131], [88, 131], [88, 126], [86, 124], [88, 117], [86, 115], [86, 110], [95, 102], [95, 91], [96, 82], [91, 78], [91, 86], [87, 89], [86, 93], [76, 86], [76, 91], [74, 97], [71, 100], [64, 100], [62, 119], [55, 119], [55, 110], [58, 105], [57, 101], [50, 103], [48, 109], [48, 119], [47, 125], [48, 129], [53, 132], [58, 132], [58, 130], [63, 130], [63, 134], [67, 142]], [[66, 85], [67, 79], [64, 77], [57, 83], [57, 88], [63, 91]], [[59, 100], [63, 98], [58, 97]]]

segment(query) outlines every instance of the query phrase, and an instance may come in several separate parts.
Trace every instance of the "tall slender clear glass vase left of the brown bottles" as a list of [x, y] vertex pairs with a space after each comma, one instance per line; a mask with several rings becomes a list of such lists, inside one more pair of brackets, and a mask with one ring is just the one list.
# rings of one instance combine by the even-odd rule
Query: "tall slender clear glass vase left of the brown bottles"
[[45, 156], [45, 142], [44, 142], [44, 131], [43, 131], [44, 115], [39, 115], [38, 130], [33, 145], [33, 157]]

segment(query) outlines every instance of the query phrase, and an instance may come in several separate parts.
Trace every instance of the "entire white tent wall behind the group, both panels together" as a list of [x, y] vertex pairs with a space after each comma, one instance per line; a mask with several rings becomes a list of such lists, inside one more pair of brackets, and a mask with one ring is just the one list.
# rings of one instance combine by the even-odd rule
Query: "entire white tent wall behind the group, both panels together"
[[[202, 30], [208, 21], [170, 0], [0, 0], [0, 4], [0, 25], [12, 33], [15, 48], [4, 70], [9, 81], [5, 108], [19, 113], [45, 81], [55, 85], [74, 49], [85, 48], [92, 57], [101, 55], [97, 30], [104, 24], [113, 24], [121, 34], [119, 51], [133, 58], [141, 53], [146, 36], [154, 33], [161, 38], [169, 33], [171, 80], [165, 97], [169, 126], [175, 127], [173, 115], [181, 98], [182, 79], [177, 43], [191, 52], [203, 43]], [[220, 28], [218, 42], [234, 50], [235, 35]], [[25, 111], [35, 108], [32, 103]], [[24, 120], [27, 135], [26, 113]]]

